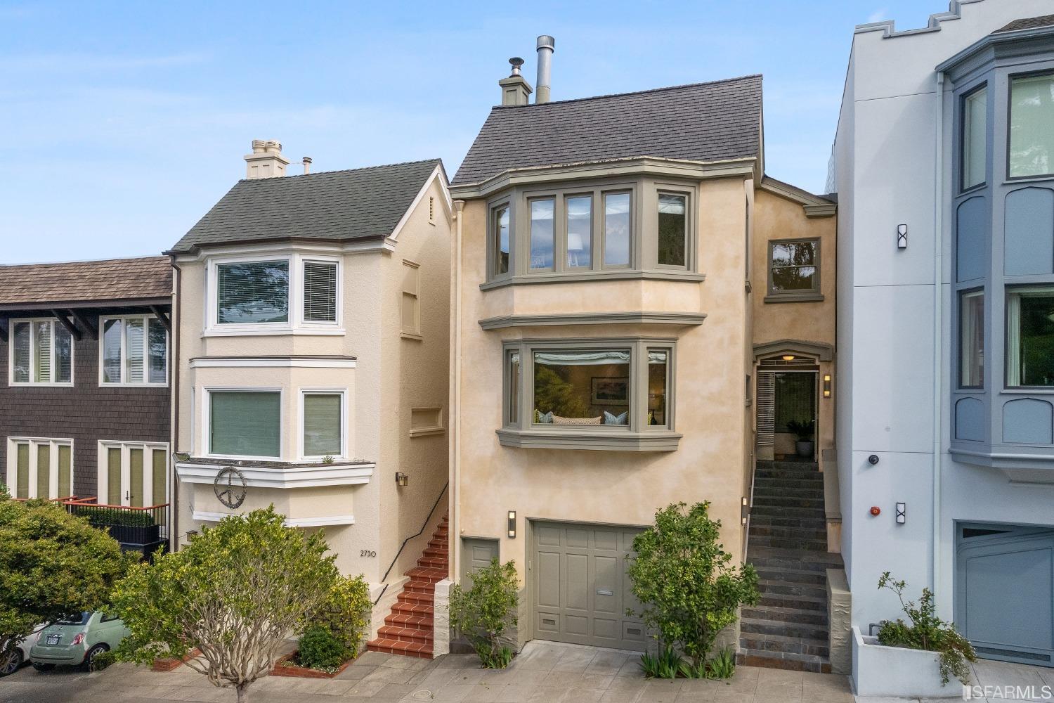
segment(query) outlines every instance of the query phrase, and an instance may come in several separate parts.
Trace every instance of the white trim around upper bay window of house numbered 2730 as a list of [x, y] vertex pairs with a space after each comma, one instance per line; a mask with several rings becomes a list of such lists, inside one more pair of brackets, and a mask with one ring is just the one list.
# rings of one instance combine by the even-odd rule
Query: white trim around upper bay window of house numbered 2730
[[[289, 262], [289, 321], [252, 323], [247, 325], [220, 325], [216, 321], [218, 304], [217, 267], [222, 263], [245, 263], [249, 261]], [[336, 321], [316, 323], [304, 319], [304, 262], [321, 261], [336, 263]], [[206, 320], [202, 336], [252, 336], [268, 334], [315, 334], [343, 335], [344, 331], [344, 261], [340, 256], [282, 250], [260, 251], [239, 256], [212, 256], [206, 259]]]

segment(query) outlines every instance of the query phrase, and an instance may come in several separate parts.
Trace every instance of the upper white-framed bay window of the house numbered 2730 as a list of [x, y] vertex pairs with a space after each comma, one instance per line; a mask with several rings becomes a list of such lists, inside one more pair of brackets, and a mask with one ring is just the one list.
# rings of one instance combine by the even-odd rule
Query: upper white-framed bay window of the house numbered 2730
[[210, 274], [212, 334], [339, 333], [340, 267], [335, 257], [214, 259]]

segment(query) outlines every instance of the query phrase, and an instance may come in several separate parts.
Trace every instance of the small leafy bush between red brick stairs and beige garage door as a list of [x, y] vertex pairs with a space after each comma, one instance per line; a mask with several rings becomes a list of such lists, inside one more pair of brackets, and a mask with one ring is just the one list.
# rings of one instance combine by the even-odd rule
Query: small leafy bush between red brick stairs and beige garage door
[[490, 669], [504, 669], [512, 661], [512, 649], [503, 636], [516, 625], [516, 566], [492, 559], [490, 565], [472, 574], [472, 587], [461, 584], [450, 589], [450, 625], [460, 630]]

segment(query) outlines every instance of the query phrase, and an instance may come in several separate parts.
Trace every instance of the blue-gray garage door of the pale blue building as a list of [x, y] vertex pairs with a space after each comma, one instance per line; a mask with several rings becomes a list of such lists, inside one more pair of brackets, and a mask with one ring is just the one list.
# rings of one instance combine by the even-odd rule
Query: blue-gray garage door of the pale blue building
[[1054, 666], [1054, 530], [960, 526], [955, 624], [977, 653]]

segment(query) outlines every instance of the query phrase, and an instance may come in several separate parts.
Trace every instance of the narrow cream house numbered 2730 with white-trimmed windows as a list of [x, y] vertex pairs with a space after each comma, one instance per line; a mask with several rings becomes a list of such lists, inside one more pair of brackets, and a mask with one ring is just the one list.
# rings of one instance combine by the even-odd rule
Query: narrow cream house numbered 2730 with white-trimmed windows
[[272, 504], [325, 528], [340, 570], [379, 599], [375, 632], [427, 538], [404, 540], [445, 512], [446, 175], [427, 160], [286, 176], [264, 141], [246, 160], [249, 177], [168, 252], [173, 532], [182, 544]]

